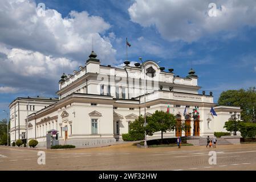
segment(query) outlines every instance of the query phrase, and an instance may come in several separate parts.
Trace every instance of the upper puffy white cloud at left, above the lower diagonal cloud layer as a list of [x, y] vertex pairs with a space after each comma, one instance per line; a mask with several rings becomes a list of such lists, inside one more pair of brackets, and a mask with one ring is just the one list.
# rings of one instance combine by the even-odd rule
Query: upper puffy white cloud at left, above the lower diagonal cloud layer
[[94, 38], [95, 52], [101, 61], [116, 62], [116, 50], [100, 35], [111, 25], [100, 16], [90, 16], [86, 11], [71, 11], [62, 18], [58, 11], [47, 9], [46, 16], [41, 17], [36, 14], [36, 4], [29, 0], [2, 0], [0, 7], [2, 43], [82, 61], [90, 54]]

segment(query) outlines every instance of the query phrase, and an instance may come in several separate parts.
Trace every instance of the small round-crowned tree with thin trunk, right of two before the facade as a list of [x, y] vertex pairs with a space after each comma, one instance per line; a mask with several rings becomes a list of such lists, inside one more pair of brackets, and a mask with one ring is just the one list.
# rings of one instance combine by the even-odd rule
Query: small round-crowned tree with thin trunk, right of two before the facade
[[166, 131], [173, 131], [176, 126], [176, 118], [173, 114], [165, 113], [164, 111], [158, 111], [151, 115], [149, 118], [151, 123], [155, 123], [155, 131], [161, 131], [161, 140], [163, 133]]

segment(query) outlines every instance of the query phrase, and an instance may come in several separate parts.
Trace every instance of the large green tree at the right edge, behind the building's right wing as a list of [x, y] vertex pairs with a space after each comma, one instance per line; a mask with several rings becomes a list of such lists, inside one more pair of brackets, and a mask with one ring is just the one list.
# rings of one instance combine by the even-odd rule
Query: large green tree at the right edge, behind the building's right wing
[[256, 88], [247, 90], [227, 90], [222, 92], [218, 99], [218, 105], [240, 106], [241, 119], [245, 122], [256, 123]]

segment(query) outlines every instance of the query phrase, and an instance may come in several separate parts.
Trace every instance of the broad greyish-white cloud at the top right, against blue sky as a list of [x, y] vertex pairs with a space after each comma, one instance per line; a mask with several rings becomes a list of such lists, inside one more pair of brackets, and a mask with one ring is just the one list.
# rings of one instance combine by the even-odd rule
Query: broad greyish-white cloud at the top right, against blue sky
[[143, 27], [156, 26], [167, 40], [193, 42], [202, 36], [221, 31], [231, 31], [227, 37], [235, 36], [237, 28], [256, 25], [256, 2], [254, 0], [217, 0], [217, 16], [208, 15], [210, 0], [135, 0], [129, 7], [133, 22]]

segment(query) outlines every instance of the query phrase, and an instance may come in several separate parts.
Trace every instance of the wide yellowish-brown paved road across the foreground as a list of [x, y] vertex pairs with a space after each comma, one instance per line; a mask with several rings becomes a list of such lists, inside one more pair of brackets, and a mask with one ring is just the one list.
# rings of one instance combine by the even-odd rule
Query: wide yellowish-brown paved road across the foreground
[[[209, 152], [216, 164], [209, 164]], [[47, 150], [46, 164], [38, 164], [39, 150], [0, 146], [0, 170], [254, 170], [256, 144], [137, 148], [131, 143], [100, 148]], [[40, 160], [41, 161], [41, 160]], [[210, 160], [212, 161], [212, 160]]]

